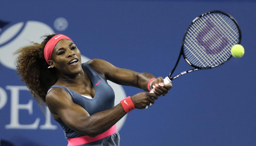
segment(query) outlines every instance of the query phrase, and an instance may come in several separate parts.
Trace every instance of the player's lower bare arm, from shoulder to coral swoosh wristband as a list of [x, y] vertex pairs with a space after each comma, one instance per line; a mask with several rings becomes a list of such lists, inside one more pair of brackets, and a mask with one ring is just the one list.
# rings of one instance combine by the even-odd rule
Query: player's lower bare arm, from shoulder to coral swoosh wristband
[[49, 91], [46, 104], [51, 113], [57, 114], [68, 127], [91, 137], [105, 132], [126, 114], [121, 104], [118, 104], [109, 110], [90, 115], [61, 88]]

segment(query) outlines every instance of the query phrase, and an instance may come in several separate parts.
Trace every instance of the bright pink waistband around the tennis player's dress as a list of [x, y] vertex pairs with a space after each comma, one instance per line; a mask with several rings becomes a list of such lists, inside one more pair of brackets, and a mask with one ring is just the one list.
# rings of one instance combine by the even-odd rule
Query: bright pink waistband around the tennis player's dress
[[115, 132], [117, 132], [116, 124], [114, 124], [114, 126], [109, 128], [109, 130], [107, 130], [104, 133], [99, 134], [99, 135], [97, 135], [95, 137], [80, 136], [80, 137], [77, 137], [77, 138], [68, 138], [67, 141], [69, 142], [69, 145], [86, 144], [86, 143], [91, 143], [93, 141], [97, 141], [97, 140], [103, 139], [103, 138], [105, 138], [107, 136], [110, 136], [110, 135], [114, 134]]

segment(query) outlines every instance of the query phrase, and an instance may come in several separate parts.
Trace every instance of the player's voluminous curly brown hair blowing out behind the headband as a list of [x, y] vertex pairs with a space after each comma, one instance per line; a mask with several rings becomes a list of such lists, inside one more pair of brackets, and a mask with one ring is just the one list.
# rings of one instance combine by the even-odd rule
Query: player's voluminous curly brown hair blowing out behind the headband
[[47, 68], [49, 65], [43, 54], [46, 43], [55, 35], [42, 36], [46, 38], [41, 44], [31, 42], [33, 45], [24, 46], [14, 52], [14, 55], [18, 55], [15, 61], [17, 74], [25, 81], [39, 106], [45, 103], [48, 89], [59, 78], [57, 69]]

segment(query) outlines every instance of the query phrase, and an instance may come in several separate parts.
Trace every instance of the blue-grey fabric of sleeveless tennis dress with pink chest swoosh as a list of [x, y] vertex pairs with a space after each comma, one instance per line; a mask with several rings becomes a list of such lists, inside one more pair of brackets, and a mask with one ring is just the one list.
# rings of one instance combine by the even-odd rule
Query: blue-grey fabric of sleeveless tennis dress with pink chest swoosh
[[[115, 101], [115, 94], [114, 94], [113, 89], [107, 83], [107, 80], [105, 78], [103, 78], [100, 74], [98, 74], [96, 71], [94, 71], [87, 63], [82, 63], [82, 68], [87, 73], [87, 75], [88, 75], [89, 79], [91, 80], [91, 83], [93, 84], [94, 89], [95, 89], [95, 96], [92, 99], [86, 98], [86, 97], [78, 94], [77, 92], [75, 92], [69, 88], [63, 87], [63, 86], [53, 85], [53, 86], [51, 86], [51, 88], [63, 88], [65, 91], [67, 91], [71, 95], [74, 103], [82, 106], [90, 115], [113, 108], [114, 101]], [[59, 122], [59, 124], [63, 128], [63, 130], [65, 132], [65, 138], [67, 138], [67, 139], [84, 136], [78, 132], [75, 132], [71, 128], [69, 128], [62, 121]], [[119, 140], [118, 132], [116, 132], [113, 135], [108, 136], [108, 137], [110, 138], [109, 140], [111, 140], [111, 139]], [[106, 138], [104, 138], [104, 139], [109, 141]], [[98, 140], [98, 141], [102, 141], [102, 140]], [[97, 141], [95, 141], [95, 142], [97, 142]], [[93, 143], [95, 143], [95, 142], [93, 142]], [[118, 141], [118, 143], [119, 143], [119, 141]]]

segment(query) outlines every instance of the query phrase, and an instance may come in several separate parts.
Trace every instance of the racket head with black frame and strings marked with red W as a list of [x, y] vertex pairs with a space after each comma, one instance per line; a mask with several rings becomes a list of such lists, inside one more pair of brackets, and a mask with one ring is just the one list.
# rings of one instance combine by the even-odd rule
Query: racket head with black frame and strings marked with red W
[[237, 21], [223, 11], [209, 11], [199, 15], [184, 34], [181, 54], [194, 68], [209, 69], [231, 58], [231, 48], [241, 42]]

